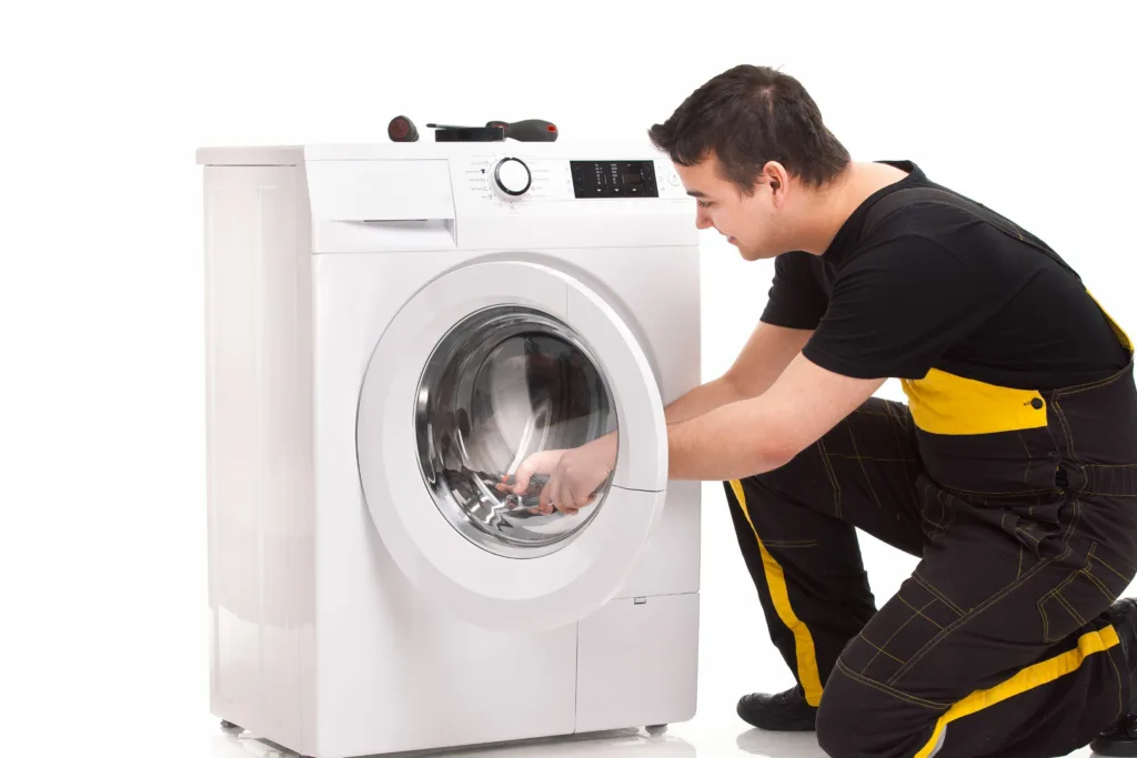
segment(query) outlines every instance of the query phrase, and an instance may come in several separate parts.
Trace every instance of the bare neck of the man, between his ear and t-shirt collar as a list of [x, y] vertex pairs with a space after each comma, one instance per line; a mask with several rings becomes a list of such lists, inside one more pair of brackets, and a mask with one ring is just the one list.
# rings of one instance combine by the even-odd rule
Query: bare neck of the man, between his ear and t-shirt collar
[[823, 255], [833, 238], [869, 195], [905, 178], [899, 168], [887, 164], [854, 163], [808, 199], [803, 214], [802, 244], [796, 249]]

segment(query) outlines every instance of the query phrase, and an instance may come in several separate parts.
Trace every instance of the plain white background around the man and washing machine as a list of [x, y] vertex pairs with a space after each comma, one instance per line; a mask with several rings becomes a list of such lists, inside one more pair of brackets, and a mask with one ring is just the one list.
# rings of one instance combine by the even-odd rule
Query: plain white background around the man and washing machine
[[[913, 159], [1023, 224], [1137, 328], [1132, 6], [926, 8], [6, 6], [8, 752], [238, 755], [207, 713], [198, 145], [385, 141], [398, 114], [425, 139], [426, 122], [545, 118], [563, 141], [636, 140], [715, 74], [781, 66], [855, 158]], [[771, 265], [741, 261], [714, 232], [705, 242], [712, 378], [753, 328]], [[899, 397], [894, 385], [886, 394]], [[706, 485], [704, 507], [699, 714], [672, 730], [684, 742], [667, 755], [721, 755], [736, 739], [814, 755], [802, 741], [763, 742], [733, 716], [740, 694], [790, 677], [766, 641], [721, 485]], [[871, 540], [864, 549], [883, 602], [914, 561]]]

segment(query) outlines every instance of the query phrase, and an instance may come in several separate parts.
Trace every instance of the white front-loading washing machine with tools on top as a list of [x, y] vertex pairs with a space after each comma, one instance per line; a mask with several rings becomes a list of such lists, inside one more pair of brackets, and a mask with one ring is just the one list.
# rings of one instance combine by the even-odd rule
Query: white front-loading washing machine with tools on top
[[[692, 201], [648, 143], [202, 148], [210, 709], [341, 758], [696, 710]], [[591, 502], [501, 477], [615, 435]], [[508, 480], [507, 480], [508, 481]]]

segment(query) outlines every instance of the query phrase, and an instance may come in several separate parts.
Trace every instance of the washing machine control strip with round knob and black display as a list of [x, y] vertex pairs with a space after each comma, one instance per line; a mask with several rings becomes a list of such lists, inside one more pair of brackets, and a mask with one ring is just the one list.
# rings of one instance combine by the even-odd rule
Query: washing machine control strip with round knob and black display
[[507, 209], [564, 200], [619, 202], [687, 197], [665, 158], [588, 160], [489, 153], [473, 156], [463, 173], [467, 191]]

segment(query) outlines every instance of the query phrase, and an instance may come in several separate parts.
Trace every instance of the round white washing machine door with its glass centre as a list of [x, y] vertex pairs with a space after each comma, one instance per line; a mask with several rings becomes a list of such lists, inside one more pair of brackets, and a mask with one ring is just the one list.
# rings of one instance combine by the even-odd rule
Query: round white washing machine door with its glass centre
[[[541, 513], [533, 453], [615, 433], [616, 465], [575, 515]], [[553, 267], [485, 261], [420, 290], [367, 365], [356, 425], [372, 520], [407, 578], [483, 627], [574, 623], [615, 595], [657, 526], [667, 435], [617, 314]]]

